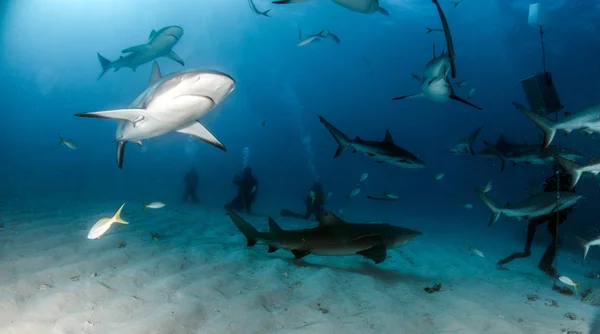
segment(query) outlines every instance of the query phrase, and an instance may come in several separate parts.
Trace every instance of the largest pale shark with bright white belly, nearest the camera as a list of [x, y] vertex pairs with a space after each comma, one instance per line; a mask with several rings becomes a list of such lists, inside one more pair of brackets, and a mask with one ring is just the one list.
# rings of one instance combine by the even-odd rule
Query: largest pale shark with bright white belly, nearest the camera
[[119, 168], [123, 168], [127, 142], [141, 146], [142, 140], [173, 131], [226, 151], [225, 146], [197, 119], [223, 102], [234, 89], [235, 80], [218, 71], [187, 70], [162, 77], [155, 61], [148, 87], [127, 109], [85, 112], [75, 116], [119, 121], [115, 134]]

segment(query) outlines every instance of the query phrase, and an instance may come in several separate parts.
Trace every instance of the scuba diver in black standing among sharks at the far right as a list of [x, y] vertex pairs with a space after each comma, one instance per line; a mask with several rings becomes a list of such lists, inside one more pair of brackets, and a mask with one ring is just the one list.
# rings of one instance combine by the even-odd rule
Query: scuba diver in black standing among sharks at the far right
[[[544, 181], [543, 189], [544, 192], [556, 192], [557, 187], [561, 192], [575, 192], [575, 188], [569, 190], [571, 184], [571, 175], [565, 172], [565, 170], [558, 166], [554, 165], [554, 174]], [[557, 180], [560, 180], [560, 184], [557, 184]], [[542, 255], [540, 262], [538, 264], [538, 268], [545, 272], [548, 276], [553, 278], [558, 278], [558, 273], [553, 266], [554, 258], [556, 257], [556, 248], [557, 248], [557, 228], [558, 225], [562, 224], [565, 220], [567, 220], [567, 214], [573, 210], [573, 207], [568, 207], [566, 209], [560, 210], [557, 212], [549, 213], [545, 216], [534, 217], [529, 220], [529, 225], [527, 226], [527, 239], [525, 242], [525, 249], [523, 252], [514, 253], [507, 258], [498, 261], [499, 265], [506, 264], [514, 259], [525, 258], [531, 255], [531, 243], [533, 242], [533, 237], [535, 236], [535, 229], [538, 225], [548, 223], [548, 231], [550, 235], [552, 235], [552, 242]]]

